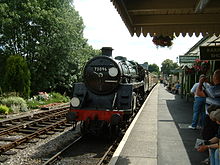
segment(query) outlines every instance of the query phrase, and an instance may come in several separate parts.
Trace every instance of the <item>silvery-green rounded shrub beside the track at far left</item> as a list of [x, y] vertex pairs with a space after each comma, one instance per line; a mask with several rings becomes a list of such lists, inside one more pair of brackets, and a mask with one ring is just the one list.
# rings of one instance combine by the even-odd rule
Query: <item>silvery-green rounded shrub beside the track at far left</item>
[[1, 103], [9, 107], [14, 113], [26, 112], [28, 110], [25, 100], [21, 97], [3, 98]]

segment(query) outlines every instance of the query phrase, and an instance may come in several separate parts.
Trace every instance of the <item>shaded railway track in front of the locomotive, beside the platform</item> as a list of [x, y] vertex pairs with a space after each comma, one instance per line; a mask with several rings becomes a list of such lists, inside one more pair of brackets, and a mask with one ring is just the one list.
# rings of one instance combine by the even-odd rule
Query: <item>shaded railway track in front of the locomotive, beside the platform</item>
[[[121, 130], [120, 135], [114, 141], [103, 140], [102, 138], [100, 139], [100, 137], [96, 138], [93, 136], [77, 136], [75, 140], [64, 147], [64, 149], [58, 151], [54, 156], [46, 158], [43, 161], [43, 165], [107, 165], [134, 117], [135, 115], [130, 118], [125, 128]], [[92, 156], [94, 154], [95, 156]]]

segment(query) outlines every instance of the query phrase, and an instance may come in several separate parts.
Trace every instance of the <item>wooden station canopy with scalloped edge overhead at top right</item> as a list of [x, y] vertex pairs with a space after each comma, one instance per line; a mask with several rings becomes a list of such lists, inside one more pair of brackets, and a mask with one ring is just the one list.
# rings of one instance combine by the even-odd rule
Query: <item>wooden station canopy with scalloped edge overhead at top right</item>
[[220, 0], [111, 0], [131, 36], [220, 34]]

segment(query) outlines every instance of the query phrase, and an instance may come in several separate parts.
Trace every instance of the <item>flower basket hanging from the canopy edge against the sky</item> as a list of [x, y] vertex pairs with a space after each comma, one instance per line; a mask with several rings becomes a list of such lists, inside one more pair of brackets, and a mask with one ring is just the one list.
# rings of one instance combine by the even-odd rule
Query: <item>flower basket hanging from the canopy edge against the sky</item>
[[174, 39], [174, 36], [154, 36], [153, 37], [153, 43], [157, 46], [157, 47], [170, 47], [173, 45], [172, 40]]

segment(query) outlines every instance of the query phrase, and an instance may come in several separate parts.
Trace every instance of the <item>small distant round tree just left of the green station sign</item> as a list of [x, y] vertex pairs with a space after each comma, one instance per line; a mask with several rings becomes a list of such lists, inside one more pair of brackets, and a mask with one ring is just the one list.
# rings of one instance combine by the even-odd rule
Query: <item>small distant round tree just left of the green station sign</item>
[[166, 74], [167, 76], [169, 76], [173, 72], [173, 70], [175, 70], [177, 68], [178, 68], [177, 63], [173, 63], [172, 60], [166, 59], [162, 62], [161, 72], [163, 72], [163, 74]]

